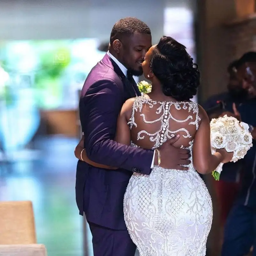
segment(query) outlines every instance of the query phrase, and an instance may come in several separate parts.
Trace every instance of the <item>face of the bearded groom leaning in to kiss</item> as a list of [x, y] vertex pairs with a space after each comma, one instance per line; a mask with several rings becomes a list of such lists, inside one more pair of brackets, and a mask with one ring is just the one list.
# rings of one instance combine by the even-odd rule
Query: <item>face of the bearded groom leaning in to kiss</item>
[[123, 38], [120, 59], [134, 76], [143, 74], [141, 64], [151, 45], [151, 35], [148, 34], [134, 33], [132, 36]]

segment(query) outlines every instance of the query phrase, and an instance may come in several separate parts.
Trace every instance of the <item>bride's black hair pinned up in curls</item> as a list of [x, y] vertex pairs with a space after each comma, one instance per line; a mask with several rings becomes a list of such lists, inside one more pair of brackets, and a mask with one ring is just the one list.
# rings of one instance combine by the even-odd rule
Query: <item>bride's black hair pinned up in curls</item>
[[169, 36], [162, 36], [154, 48], [150, 67], [162, 84], [166, 96], [176, 100], [190, 100], [200, 84], [198, 66], [186, 47]]

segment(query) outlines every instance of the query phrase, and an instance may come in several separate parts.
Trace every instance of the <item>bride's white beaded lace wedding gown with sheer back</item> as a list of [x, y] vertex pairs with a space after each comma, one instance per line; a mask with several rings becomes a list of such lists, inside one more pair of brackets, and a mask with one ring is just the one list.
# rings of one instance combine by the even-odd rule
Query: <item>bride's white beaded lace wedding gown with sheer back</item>
[[[182, 120], [174, 118], [174, 112]], [[138, 130], [137, 144], [147, 137], [155, 143], [154, 149], [181, 132], [179, 140], [187, 141], [192, 161], [190, 132], [194, 128], [195, 134], [200, 121], [197, 103], [156, 102], [140, 96], [133, 104], [131, 129], [136, 129], [137, 119], [148, 127]], [[156, 124], [157, 131], [155, 127], [149, 132]], [[137, 146], [134, 142], [132, 146]], [[124, 220], [140, 256], [203, 256], [212, 224], [212, 201], [192, 163], [188, 171], [154, 166], [150, 175], [132, 175], [124, 195]]]

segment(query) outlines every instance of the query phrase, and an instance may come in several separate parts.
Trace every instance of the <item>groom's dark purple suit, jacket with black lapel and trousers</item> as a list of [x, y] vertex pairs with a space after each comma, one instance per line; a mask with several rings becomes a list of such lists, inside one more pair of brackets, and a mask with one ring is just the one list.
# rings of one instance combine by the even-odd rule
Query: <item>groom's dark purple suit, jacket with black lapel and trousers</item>
[[133, 172], [151, 172], [153, 151], [113, 141], [119, 111], [125, 100], [136, 96], [135, 91], [139, 94], [106, 54], [92, 68], [81, 92], [87, 156], [96, 163], [119, 167], [107, 170], [82, 161], [77, 164], [76, 203], [89, 222], [94, 256], [132, 256], [135, 252], [124, 223], [123, 198]]

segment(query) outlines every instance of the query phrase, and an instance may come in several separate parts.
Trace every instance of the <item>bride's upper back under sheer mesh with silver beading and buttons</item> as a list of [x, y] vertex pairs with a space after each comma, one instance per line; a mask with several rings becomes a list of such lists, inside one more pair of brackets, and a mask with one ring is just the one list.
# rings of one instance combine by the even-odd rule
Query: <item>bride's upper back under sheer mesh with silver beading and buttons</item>
[[192, 101], [155, 101], [148, 95], [134, 100], [130, 118], [132, 142], [141, 148], [158, 148], [180, 134], [176, 147], [189, 147], [198, 129], [198, 105]]

